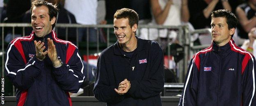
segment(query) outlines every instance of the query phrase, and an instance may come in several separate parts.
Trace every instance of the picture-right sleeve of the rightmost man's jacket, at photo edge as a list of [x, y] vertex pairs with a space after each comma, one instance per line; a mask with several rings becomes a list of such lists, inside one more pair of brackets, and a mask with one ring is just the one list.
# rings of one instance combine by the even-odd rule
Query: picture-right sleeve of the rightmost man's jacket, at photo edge
[[242, 73], [242, 105], [243, 106], [256, 105], [256, 93], [255, 93], [256, 68], [255, 66], [256, 66], [256, 61], [255, 61], [255, 58], [253, 57], [252, 59], [249, 60], [245, 68], [245, 71]]

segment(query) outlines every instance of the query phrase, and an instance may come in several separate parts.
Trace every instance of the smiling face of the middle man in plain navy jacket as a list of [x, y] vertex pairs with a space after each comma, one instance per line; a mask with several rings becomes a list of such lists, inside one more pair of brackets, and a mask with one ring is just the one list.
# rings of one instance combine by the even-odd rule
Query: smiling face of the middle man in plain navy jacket
[[[129, 44], [131, 38], [135, 37], [137, 24], [131, 28], [128, 18], [114, 18], [114, 33], [117, 37], [119, 44]], [[136, 39], [135, 39], [136, 40]]]

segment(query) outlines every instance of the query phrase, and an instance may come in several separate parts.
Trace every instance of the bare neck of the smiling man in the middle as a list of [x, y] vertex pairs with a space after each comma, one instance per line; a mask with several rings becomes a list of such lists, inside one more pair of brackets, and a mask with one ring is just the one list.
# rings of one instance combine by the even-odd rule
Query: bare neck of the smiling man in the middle
[[123, 51], [131, 52], [137, 48], [137, 39], [135, 38], [135, 40], [131, 40], [131, 41], [133, 41], [133, 42], [130, 42], [130, 44], [120, 44]]

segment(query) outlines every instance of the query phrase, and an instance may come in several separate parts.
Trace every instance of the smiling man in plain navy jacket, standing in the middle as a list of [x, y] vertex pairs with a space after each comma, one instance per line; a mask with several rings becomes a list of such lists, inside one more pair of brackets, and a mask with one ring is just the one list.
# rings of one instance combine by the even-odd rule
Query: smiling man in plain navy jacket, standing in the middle
[[101, 53], [93, 90], [107, 106], [162, 106], [163, 51], [157, 42], [135, 36], [138, 21], [132, 9], [114, 14], [117, 42]]

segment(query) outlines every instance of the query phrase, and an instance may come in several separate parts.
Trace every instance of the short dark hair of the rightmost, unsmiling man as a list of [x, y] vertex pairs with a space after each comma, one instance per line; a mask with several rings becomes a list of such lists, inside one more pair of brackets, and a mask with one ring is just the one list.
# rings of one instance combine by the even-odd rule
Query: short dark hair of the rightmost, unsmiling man
[[231, 11], [226, 9], [219, 9], [212, 12], [211, 18], [217, 18], [217, 17], [225, 17], [226, 23], [228, 24], [228, 28], [236, 28], [238, 24], [238, 19], [236, 18], [235, 14], [233, 14]]

